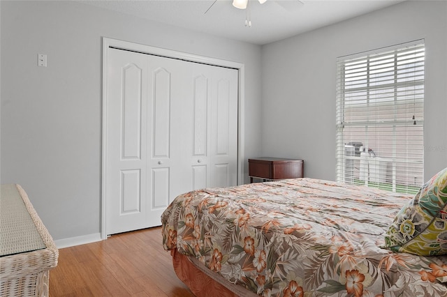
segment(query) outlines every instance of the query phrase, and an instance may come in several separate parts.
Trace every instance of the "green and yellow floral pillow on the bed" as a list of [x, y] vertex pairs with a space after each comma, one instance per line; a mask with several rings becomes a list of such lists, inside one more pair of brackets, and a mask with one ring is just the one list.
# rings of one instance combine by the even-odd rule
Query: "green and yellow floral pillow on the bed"
[[447, 168], [397, 213], [382, 248], [421, 256], [447, 254]]

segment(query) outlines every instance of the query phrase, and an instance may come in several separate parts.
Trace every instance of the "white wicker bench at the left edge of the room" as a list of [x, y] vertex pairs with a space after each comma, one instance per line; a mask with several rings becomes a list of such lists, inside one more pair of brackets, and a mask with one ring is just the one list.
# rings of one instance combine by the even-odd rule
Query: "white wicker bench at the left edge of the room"
[[20, 185], [1, 185], [0, 296], [48, 296], [59, 251]]

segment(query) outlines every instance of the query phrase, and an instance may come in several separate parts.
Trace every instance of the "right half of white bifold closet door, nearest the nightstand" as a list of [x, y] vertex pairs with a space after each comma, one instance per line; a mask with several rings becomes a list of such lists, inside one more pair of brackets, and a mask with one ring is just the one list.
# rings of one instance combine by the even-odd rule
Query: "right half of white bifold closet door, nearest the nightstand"
[[236, 185], [237, 70], [203, 64], [192, 69], [193, 189]]

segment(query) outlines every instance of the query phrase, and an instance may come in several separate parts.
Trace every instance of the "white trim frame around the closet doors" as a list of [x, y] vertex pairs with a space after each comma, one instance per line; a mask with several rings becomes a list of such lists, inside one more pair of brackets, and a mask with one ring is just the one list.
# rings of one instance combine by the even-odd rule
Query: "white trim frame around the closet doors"
[[144, 54], [154, 54], [156, 56], [166, 56], [168, 58], [180, 59], [184, 61], [204, 63], [212, 66], [221, 66], [233, 68], [238, 73], [238, 98], [237, 98], [237, 184], [244, 183], [244, 63], [215, 59], [208, 56], [198, 56], [196, 54], [188, 54], [185, 52], [177, 52], [175, 50], [167, 50], [161, 47], [152, 47], [139, 43], [131, 43], [124, 40], [103, 37], [103, 96], [102, 96], [102, 149], [101, 149], [101, 238], [107, 239], [105, 232], [105, 204], [107, 203], [107, 192], [105, 190], [105, 181], [107, 180], [107, 135], [108, 135], [108, 57], [110, 47], [120, 50], [130, 50], [133, 52], [141, 52]]

